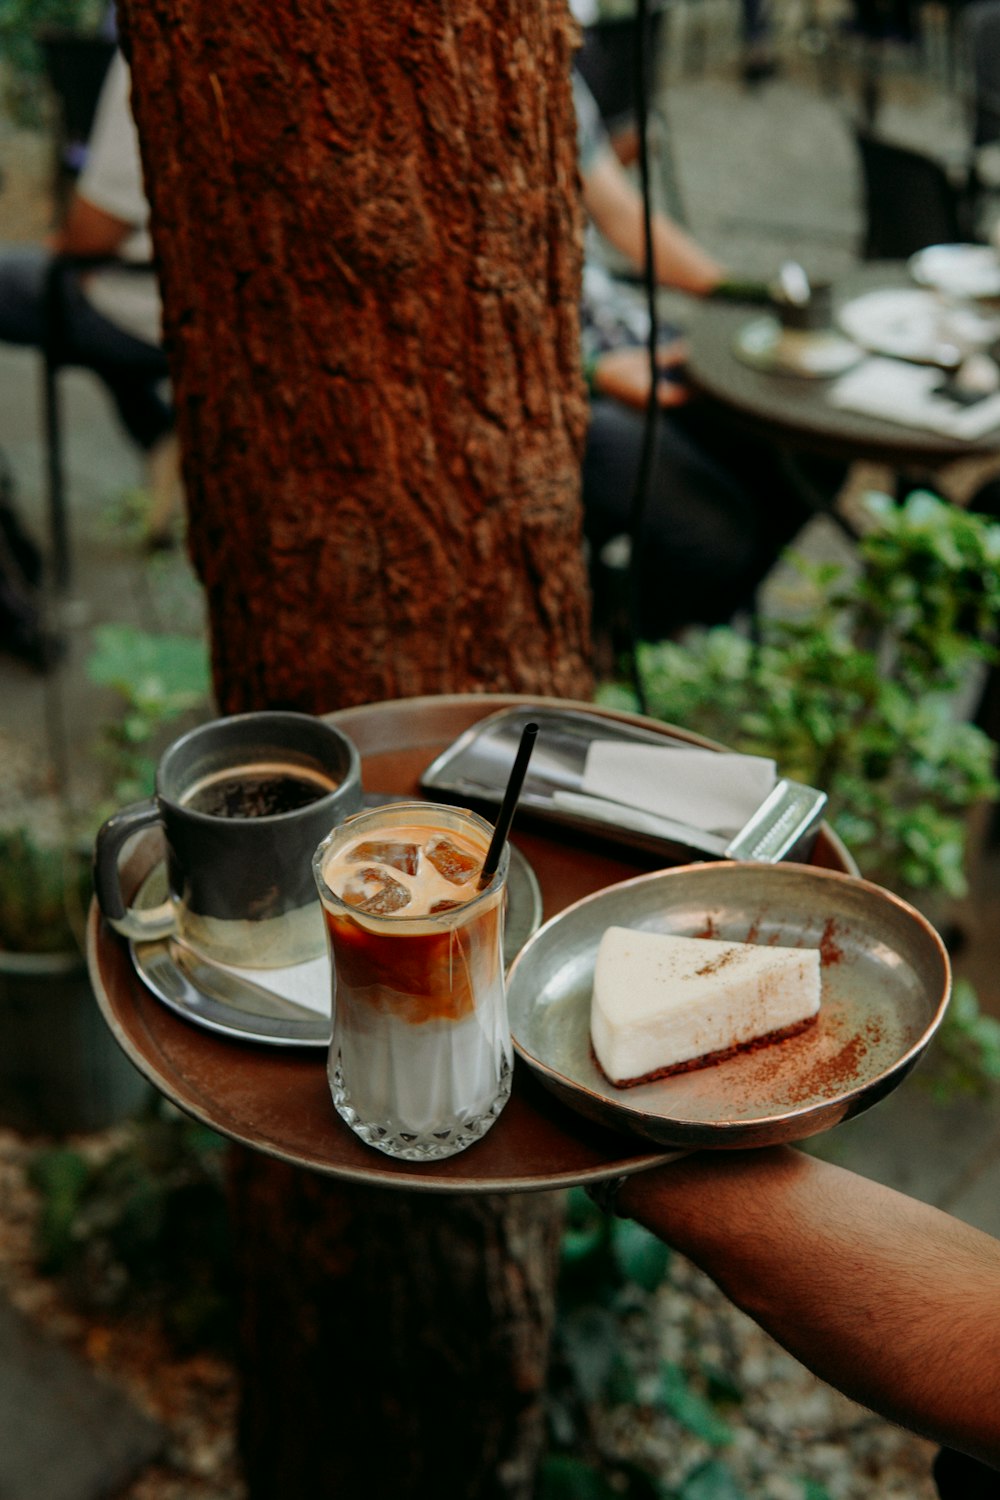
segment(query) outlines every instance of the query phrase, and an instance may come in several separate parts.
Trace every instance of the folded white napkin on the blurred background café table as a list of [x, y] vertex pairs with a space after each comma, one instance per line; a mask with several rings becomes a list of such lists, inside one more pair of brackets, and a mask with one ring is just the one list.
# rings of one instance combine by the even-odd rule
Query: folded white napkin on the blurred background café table
[[831, 386], [829, 400], [841, 411], [885, 417], [907, 428], [945, 432], [952, 438], [981, 438], [1000, 426], [1000, 392], [973, 406], [936, 394], [942, 370], [904, 360], [874, 357], [856, 364]]

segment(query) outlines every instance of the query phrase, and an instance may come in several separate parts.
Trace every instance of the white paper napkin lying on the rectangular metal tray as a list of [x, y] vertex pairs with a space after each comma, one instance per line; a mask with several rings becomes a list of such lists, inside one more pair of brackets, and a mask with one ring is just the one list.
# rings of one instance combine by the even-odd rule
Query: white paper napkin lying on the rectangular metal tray
[[[687, 828], [732, 837], [774, 790], [775, 782], [775, 762], [766, 756], [594, 740], [586, 753], [582, 790]], [[579, 806], [579, 798], [576, 801]]]

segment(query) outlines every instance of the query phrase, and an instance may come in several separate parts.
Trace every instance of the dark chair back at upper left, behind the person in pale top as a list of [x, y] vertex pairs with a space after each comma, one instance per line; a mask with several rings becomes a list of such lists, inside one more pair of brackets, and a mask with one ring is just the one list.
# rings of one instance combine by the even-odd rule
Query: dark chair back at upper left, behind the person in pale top
[[37, 44], [55, 111], [52, 198], [60, 219], [87, 156], [100, 87], [117, 44], [100, 32], [69, 27], [43, 27]]

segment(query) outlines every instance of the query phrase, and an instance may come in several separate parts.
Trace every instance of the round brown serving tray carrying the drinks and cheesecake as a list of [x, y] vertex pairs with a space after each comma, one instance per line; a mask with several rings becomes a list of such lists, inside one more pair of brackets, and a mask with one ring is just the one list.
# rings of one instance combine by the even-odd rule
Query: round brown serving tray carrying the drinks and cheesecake
[[[343, 710], [328, 720], [357, 744], [366, 792], [418, 796], [421, 774], [460, 734], [487, 714], [528, 704], [603, 712], [612, 720], [718, 748], [640, 716], [513, 694], [399, 699]], [[663, 864], [652, 852], [520, 816], [511, 842], [538, 879], [543, 920], [580, 897]], [[126, 890], [129, 882], [138, 888], [159, 856], [154, 836], [138, 838], [123, 872]], [[825, 824], [811, 862], [856, 874], [850, 855]], [[430, 1166], [394, 1161], [364, 1146], [336, 1114], [324, 1050], [240, 1041], [175, 1014], [142, 984], [127, 942], [108, 927], [96, 904], [88, 916], [87, 948], [97, 1004], [135, 1066], [187, 1114], [277, 1160], [369, 1185], [514, 1192], [600, 1182], [676, 1155], [574, 1113], [519, 1060], [510, 1102], [483, 1140]]]

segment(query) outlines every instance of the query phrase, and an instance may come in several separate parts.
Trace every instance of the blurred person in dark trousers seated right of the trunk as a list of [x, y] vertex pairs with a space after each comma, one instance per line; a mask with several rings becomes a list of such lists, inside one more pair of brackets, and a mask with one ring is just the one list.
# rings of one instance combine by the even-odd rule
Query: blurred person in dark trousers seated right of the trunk
[[[574, 75], [583, 202], [591, 220], [583, 268], [582, 348], [591, 393], [583, 458], [583, 526], [600, 597], [600, 558], [628, 534], [649, 396], [649, 322], [634, 290], [616, 282], [595, 254], [594, 230], [627, 260], [645, 264], [643, 204], [601, 126], [597, 105]], [[718, 292], [723, 266], [664, 214], [652, 219], [658, 285], [694, 297]], [[642, 638], [675, 636], [685, 626], [724, 624], [753, 609], [757, 588], [813, 513], [780, 453], [748, 435], [718, 404], [684, 382], [679, 328], [663, 327], [661, 417], [639, 552]], [[846, 474], [816, 464], [810, 482], [832, 504]]]

